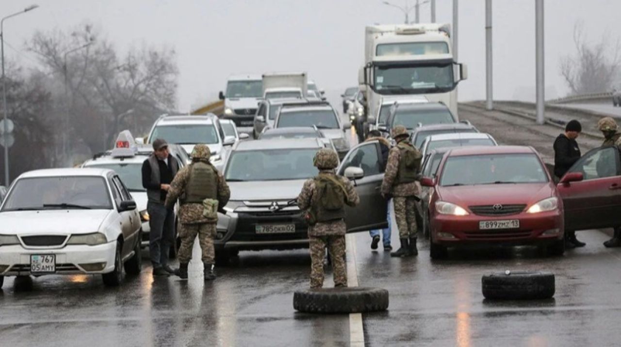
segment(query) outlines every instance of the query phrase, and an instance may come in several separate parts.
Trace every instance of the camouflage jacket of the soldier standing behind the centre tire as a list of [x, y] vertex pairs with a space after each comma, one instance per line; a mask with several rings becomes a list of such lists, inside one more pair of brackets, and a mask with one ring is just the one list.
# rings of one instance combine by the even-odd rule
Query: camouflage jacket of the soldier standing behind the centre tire
[[[334, 174], [334, 170], [322, 170], [321, 172]], [[335, 176], [337, 175], [335, 174]], [[341, 180], [343, 186], [345, 187], [345, 191], [347, 192], [347, 201], [345, 201], [345, 204], [350, 206], [358, 205], [360, 197], [358, 197], [358, 192], [356, 192], [356, 189], [353, 187], [350, 180], [344, 178], [343, 176], [337, 176], [337, 178]], [[302, 187], [300, 195], [297, 196], [297, 205], [301, 210], [307, 210], [312, 205], [318, 203], [318, 196], [314, 193], [315, 181], [314, 179], [309, 179], [304, 183], [304, 187]], [[309, 226], [309, 237], [345, 235], [346, 232], [347, 227], [345, 226], [345, 221], [343, 220], [337, 220], [336, 222], [319, 222], [315, 225]]]

